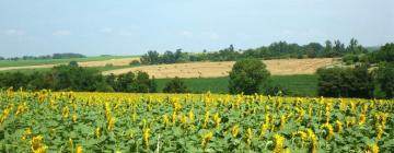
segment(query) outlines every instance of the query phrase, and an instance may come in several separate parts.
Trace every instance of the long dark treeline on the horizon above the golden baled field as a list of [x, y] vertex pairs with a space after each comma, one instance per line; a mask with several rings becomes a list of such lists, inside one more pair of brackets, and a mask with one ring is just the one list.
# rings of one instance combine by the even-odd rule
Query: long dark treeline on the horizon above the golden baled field
[[219, 51], [207, 52], [204, 50], [200, 54], [182, 52], [182, 49], [177, 49], [175, 52], [167, 50], [163, 55], [160, 55], [155, 50], [149, 50], [140, 58], [140, 61], [142, 64], [159, 64], [188, 61], [232, 61], [243, 58], [280, 59], [328, 58], [344, 56], [355, 58], [350, 56], [359, 56], [364, 54], [368, 54], [368, 49], [359, 45], [357, 39], [352, 38], [347, 46], [345, 46], [345, 44], [343, 44], [340, 40], [326, 40], [324, 46], [320, 43], [298, 45], [289, 44], [287, 42], [277, 42], [270, 44], [269, 46], [245, 50], [235, 50], [234, 46], [230, 45], [230, 47]]

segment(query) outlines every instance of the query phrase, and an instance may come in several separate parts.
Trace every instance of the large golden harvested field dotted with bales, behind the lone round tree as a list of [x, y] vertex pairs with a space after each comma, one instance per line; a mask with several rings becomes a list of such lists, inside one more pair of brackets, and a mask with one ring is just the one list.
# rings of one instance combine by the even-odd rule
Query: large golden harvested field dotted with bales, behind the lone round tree
[[[269, 72], [274, 75], [287, 74], [313, 74], [318, 68], [337, 64], [336, 58], [316, 59], [276, 59], [263, 61]], [[234, 61], [221, 62], [192, 62], [158, 66], [142, 66], [137, 68], [125, 68], [103, 72], [104, 74], [121, 74], [129, 71], [144, 71], [157, 79], [162, 78], [213, 78], [225, 76], [232, 69]]]

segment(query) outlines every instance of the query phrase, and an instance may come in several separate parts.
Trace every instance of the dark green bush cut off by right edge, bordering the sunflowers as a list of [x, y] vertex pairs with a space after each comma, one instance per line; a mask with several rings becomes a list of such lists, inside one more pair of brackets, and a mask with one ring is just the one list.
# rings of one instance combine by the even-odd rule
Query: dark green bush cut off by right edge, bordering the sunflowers
[[386, 98], [394, 97], [394, 63], [381, 64], [378, 69], [378, 83]]

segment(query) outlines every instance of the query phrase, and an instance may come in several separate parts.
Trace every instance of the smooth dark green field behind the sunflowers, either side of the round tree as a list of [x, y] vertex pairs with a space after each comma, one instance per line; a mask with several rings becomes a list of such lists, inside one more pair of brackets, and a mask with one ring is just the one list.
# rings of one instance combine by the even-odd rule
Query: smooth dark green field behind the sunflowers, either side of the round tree
[[[170, 79], [157, 79], [158, 90], [161, 92]], [[194, 78], [183, 79], [188, 90], [193, 93], [228, 93], [229, 78]], [[287, 89], [291, 95], [316, 96], [317, 76], [316, 75], [273, 75], [271, 83]]]

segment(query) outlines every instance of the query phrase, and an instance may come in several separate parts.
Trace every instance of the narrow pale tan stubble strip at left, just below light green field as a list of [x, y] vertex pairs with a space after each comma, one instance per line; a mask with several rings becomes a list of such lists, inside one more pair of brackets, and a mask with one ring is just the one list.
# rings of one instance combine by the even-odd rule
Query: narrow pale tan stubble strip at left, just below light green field
[[[108, 60], [100, 60], [100, 61], [84, 61], [78, 62], [81, 67], [105, 67], [107, 64], [112, 66], [128, 66], [130, 61], [139, 60], [138, 57], [134, 58], [119, 58], [119, 59], [108, 59]], [[23, 66], [23, 67], [4, 67], [0, 68], [0, 71], [5, 70], [21, 70], [21, 69], [42, 69], [42, 68], [53, 68], [58, 64], [39, 64], [39, 66]]]

